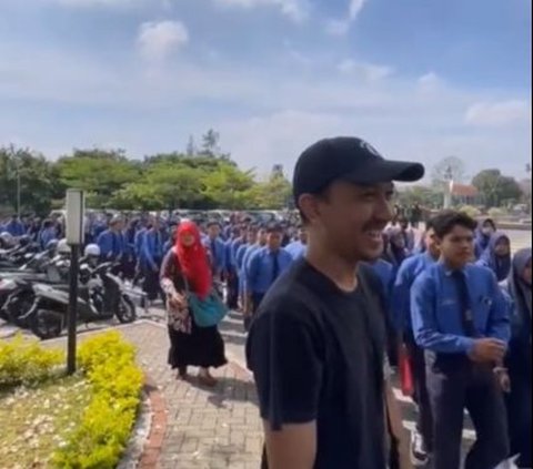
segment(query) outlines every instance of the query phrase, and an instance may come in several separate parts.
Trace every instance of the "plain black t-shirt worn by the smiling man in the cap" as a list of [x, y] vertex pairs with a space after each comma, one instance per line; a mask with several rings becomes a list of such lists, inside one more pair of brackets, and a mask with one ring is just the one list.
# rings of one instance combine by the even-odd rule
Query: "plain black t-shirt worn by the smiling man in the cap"
[[247, 343], [260, 412], [274, 430], [316, 420], [315, 469], [384, 469], [384, 314], [360, 268], [344, 293], [305, 259], [263, 299]]

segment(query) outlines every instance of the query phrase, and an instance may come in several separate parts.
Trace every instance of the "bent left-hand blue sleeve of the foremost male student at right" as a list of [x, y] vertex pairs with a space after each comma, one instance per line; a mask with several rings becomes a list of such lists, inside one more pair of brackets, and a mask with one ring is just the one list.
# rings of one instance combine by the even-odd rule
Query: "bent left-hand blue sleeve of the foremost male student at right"
[[474, 340], [454, 334], [442, 334], [436, 323], [436, 287], [434, 281], [422, 274], [411, 288], [411, 319], [416, 344], [442, 354], [466, 354]]

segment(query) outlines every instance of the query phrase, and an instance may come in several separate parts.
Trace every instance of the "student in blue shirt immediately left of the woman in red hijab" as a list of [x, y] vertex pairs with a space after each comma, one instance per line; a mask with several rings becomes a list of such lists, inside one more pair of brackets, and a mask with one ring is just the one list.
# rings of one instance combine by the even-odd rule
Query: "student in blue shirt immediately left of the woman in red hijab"
[[150, 302], [161, 293], [159, 269], [163, 261], [163, 234], [161, 222], [154, 218], [152, 227], [144, 233], [141, 248], [141, 266], [144, 277], [143, 290]]

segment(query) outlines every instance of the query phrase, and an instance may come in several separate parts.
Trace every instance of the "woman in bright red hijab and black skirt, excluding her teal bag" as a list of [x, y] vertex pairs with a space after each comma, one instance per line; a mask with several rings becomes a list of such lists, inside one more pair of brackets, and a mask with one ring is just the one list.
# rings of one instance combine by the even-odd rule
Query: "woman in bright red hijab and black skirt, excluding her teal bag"
[[178, 227], [175, 245], [161, 266], [161, 286], [167, 294], [169, 365], [178, 369], [179, 379], [187, 378], [188, 366], [197, 366], [200, 384], [214, 386], [217, 380], [209, 368], [227, 364], [224, 343], [217, 326], [197, 326], [187, 305], [188, 289], [200, 299], [205, 299], [212, 289], [208, 253], [193, 222]]

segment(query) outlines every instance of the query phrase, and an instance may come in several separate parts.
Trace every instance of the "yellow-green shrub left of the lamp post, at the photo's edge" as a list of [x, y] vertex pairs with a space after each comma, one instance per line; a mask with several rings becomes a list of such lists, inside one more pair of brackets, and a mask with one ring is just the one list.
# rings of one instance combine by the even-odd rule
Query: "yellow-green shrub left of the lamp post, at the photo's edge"
[[18, 334], [0, 341], [0, 388], [34, 385], [50, 378], [64, 363], [64, 353], [43, 348]]

